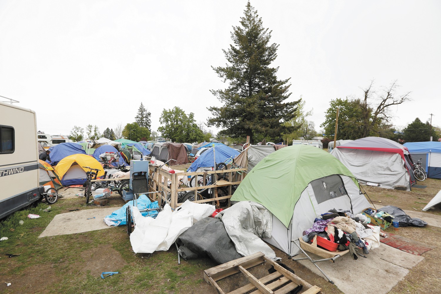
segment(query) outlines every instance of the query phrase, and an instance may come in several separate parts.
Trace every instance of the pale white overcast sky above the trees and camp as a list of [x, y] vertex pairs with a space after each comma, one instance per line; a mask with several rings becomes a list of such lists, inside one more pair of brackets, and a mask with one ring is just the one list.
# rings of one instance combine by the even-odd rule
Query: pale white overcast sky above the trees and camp
[[[69, 134], [132, 123], [141, 102], [152, 129], [163, 108], [206, 121], [226, 88], [211, 66], [226, 63], [246, 0], [0, 1], [0, 95], [37, 112], [37, 128]], [[329, 101], [361, 97], [398, 80], [412, 100], [392, 109], [407, 126], [433, 113], [441, 127], [441, 1], [252, 0], [280, 44], [273, 63], [292, 95], [314, 108], [316, 130]], [[3, 100], [3, 99], [0, 99]], [[213, 130], [216, 128], [211, 127]]]

